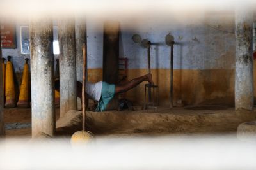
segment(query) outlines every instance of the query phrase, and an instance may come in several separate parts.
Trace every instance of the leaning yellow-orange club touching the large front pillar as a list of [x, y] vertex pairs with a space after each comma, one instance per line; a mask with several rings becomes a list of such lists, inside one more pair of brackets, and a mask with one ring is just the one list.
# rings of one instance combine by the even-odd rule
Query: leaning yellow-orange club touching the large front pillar
[[22, 74], [22, 83], [20, 86], [20, 96], [17, 103], [19, 108], [29, 107], [29, 71], [28, 71], [28, 59], [25, 59], [24, 71]]

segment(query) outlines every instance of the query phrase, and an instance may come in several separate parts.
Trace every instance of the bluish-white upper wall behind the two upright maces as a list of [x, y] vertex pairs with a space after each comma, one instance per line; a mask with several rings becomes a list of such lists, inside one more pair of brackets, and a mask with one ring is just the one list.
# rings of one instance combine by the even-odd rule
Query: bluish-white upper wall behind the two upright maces
[[232, 13], [207, 15], [202, 20], [191, 23], [166, 20], [161, 24], [157, 21], [145, 22], [132, 31], [125, 31], [125, 27], [122, 27], [120, 56], [129, 59], [129, 68], [147, 68], [147, 49], [132, 41], [133, 34], [140, 34], [143, 39], [156, 44], [151, 47], [152, 68], [170, 68], [170, 47], [165, 44], [165, 36], [169, 33], [175, 37], [176, 42], [175, 69], [234, 68], [234, 59], [230, 59], [234, 57], [235, 50]]

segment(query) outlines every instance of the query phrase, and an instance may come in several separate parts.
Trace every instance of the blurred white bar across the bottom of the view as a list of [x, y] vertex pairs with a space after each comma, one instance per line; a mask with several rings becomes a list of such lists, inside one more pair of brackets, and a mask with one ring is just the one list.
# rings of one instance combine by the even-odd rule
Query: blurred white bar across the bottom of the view
[[228, 136], [106, 136], [84, 147], [8, 139], [0, 144], [0, 169], [256, 169], [255, 144]]

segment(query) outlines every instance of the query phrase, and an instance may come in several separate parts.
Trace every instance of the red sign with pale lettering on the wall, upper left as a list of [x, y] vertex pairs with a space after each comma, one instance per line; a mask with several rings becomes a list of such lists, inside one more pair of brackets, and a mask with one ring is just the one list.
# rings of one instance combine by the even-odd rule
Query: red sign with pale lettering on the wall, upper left
[[2, 48], [16, 48], [15, 24], [1, 23]]

